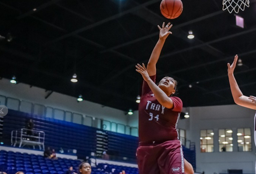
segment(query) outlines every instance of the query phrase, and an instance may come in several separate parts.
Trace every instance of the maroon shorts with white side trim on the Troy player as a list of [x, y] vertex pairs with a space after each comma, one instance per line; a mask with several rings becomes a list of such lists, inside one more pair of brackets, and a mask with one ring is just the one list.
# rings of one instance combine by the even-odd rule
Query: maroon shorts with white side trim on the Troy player
[[140, 142], [136, 152], [140, 174], [184, 174], [181, 142]]

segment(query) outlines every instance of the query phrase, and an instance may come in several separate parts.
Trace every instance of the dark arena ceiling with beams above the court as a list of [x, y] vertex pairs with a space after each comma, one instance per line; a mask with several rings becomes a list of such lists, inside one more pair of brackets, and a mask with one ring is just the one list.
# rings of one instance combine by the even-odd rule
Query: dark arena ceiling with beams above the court
[[[141, 75], [158, 39], [157, 25], [173, 24], [157, 64], [157, 80], [178, 82], [184, 106], [234, 104], [227, 63], [238, 54], [235, 77], [245, 95], [256, 95], [256, 0], [238, 15], [221, 0], [183, 0], [174, 20], [159, 11], [160, 0], [1, 0], [0, 77], [104, 106], [137, 110]], [[33, 9], [36, 9], [33, 11]], [[187, 39], [188, 31], [194, 39]], [[78, 75], [78, 83], [70, 82]], [[192, 85], [190, 88], [189, 85]], [[19, 84], [16, 84], [19, 85]]]

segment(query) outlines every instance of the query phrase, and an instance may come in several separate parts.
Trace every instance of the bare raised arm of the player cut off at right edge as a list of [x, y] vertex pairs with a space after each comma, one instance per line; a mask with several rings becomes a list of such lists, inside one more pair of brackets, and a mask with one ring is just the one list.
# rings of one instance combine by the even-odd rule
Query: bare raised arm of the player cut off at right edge
[[228, 80], [229, 80], [230, 89], [231, 89], [234, 102], [237, 105], [244, 106], [246, 108], [256, 109], [256, 97], [244, 96], [238, 87], [236, 79], [234, 78], [234, 69], [236, 67], [237, 59], [238, 59], [238, 56], [235, 55], [232, 65], [228, 63]]

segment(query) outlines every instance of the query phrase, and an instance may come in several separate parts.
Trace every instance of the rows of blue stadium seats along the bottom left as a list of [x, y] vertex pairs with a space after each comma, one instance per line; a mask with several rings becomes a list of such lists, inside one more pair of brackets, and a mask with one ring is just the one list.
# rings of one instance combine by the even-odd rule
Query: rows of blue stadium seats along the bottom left
[[[17, 171], [23, 171], [25, 174], [65, 174], [70, 166], [78, 172], [80, 164], [80, 160], [45, 159], [41, 155], [0, 150], [0, 171], [7, 174], [14, 174]], [[122, 170], [128, 174], [138, 174], [137, 168], [103, 163], [92, 167], [92, 174], [119, 174]]]

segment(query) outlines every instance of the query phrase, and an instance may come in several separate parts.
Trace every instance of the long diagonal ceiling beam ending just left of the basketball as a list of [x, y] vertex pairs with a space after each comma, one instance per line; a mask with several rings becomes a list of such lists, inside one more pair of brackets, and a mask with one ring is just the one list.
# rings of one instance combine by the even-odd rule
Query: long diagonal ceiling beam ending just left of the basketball
[[102, 24], [104, 24], [104, 23], [106, 23], [106, 22], [108, 22], [108, 21], [112, 21], [112, 20], [114, 20], [114, 19], [120, 18], [120, 17], [122, 17], [123, 15], [126, 15], [126, 14], [128, 14], [128, 13], [131, 13], [131, 12], [135, 11], [135, 10], [138, 10], [138, 9], [140, 9], [140, 8], [143, 8], [144, 6], [148, 6], [148, 5], [151, 5], [151, 4], [153, 4], [153, 3], [157, 3], [157, 2], [159, 2], [159, 0], [150, 0], [150, 1], [148, 1], [147, 3], [143, 3], [143, 4], [139, 5], [139, 6], [136, 6], [136, 7], [134, 7], [134, 8], [128, 9], [128, 10], [126, 10], [126, 11], [124, 11], [124, 12], [118, 13], [118, 14], [116, 14], [116, 15], [112, 15], [112, 16], [110, 16], [109, 18], [103, 19], [102, 21], [98, 21], [98, 22], [96, 22], [96, 23], [94, 23], [94, 24], [91, 24], [91, 25], [88, 25], [88, 26], [83, 27], [83, 28], [81, 28], [81, 29], [75, 30], [75, 31], [73, 31], [73, 32], [71, 32], [71, 33], [67, 33], [67, 34], [65, 34], [65, 35], [63, 35], [63, 36], [60, 36], [60, 37], [58, 37], [58, 38], [56, 38], [56, 39], [53, 39], [53, 40], [50, 41], [50, 42], [47, 42], [46, 44], [51, 44], [51, 43], [53, 43], [53, 42], [58, 42], [58, 41], [60, 41], [60, 40], [62, 40], [62, 39], [65, 39], [65, 38], [67, 38], [67, 37], [69, 37], [69, 36], [72, 36], [72, 35], [74, 35], [74, 34], [78, 34], [78, 33], [81, 33], [81, 32], [83, 32], [83, 31], [89, 30], [89, 29], [91, 29], [91, 28], [97, 27], [97, 26], [102, 25]]

